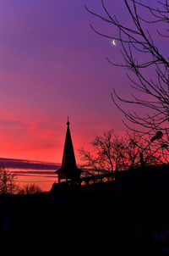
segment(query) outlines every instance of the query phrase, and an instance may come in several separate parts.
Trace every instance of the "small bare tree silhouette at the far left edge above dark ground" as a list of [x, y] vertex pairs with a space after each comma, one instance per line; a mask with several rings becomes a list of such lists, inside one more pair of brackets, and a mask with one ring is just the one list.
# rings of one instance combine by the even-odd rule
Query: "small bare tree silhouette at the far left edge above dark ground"
[[0, 194], [14, 194], [19, 192], [15, 175], [11, 174], [3, 165], [0, 165]]

